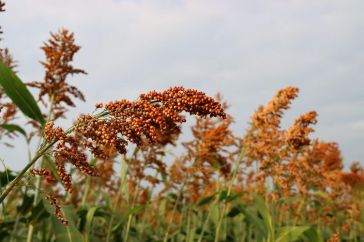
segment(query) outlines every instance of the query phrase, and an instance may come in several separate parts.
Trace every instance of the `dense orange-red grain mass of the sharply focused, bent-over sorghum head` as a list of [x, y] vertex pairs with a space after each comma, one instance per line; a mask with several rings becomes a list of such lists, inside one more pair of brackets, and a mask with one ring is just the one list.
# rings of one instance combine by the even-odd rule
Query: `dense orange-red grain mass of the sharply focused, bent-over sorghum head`
[[104, 105], [96, 104], [96, 108], [100, 107], [108, 111], [109, 119], [83, 115], [78, 118], [79, 125], [74, 130], [97, 145], [111, 145], [122, 154], [126, 153], [127, 141], [140, 148], [144, 144], [143, 135], [155, 144], [158, 133], [179, 133], [181, 130], [176, 123], [186, 121], [179, 116], [182, 111], [203, 118], [207, 115], [226, 118], [221, 104], [213, 98], [183, 87], [170, 88], [163, 93], [153, 91], [141, 94], [140, 99], [134, 102], [123, 99]]

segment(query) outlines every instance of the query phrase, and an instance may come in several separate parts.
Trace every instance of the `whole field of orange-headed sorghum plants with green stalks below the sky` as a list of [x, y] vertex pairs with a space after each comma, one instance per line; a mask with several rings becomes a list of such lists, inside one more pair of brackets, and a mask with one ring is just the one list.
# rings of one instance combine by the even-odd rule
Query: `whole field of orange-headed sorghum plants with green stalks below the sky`
[[[364, 169], [344, 172], [337, 143], [309, 139], [315, 111], [280, 127], [297, 88], [257, 107], [244, 134], [230, 129], [222, 95], [185, 87], [71, 117], [72, 100], [85, 101], [67, 79], [87, 74], [72, 66], [80, 46], [66, 29], [45, 41], [41, 81], [22, 82], [16, 59], [0, 52], [0, 138], [25, 138], [29, 153], [20, 171], [1, 160], [0, 241], [364, 241]], [[61, 118], [76, 121], [56, 127]], [[193, 139], [176, 155], [186, 119]]]

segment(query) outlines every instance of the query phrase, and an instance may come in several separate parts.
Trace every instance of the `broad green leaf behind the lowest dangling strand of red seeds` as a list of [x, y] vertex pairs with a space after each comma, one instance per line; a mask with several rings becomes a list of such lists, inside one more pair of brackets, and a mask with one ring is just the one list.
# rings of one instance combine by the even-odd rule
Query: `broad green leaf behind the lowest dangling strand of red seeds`
[[[43, 199], [44, 207], [49, 213], [54, 213], [55, 208], [50, 204], [49, 200]], [[56, 241], [79, 242], [84, 241], [81, 232], [76, 228], [76, 213], [73, 205], [64, 205], [61, 209], [64, 219], [68, 221], [68, 226], [64, 226], [55, 215], [51, 216], [52, 227], [56, 237]]]

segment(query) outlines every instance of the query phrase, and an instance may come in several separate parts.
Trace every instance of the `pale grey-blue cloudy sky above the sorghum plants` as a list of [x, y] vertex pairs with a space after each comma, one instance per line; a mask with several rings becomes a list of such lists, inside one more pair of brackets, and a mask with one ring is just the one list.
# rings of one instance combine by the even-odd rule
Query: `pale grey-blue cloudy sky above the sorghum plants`
[[[88, 75], [68, 81], [87, 102], [74, 99], [77, 107], [56, 125], [68, 128], [95, 103], [132, 101], [141, 93], [184, 86], [209, 96], [220, 92], [231, 104], [234, 134], [241, 137], [259, 105], [279, 89], [295, 86], [299, 97], [285, 112], [282, 127], [316, 110], [318, 123], [310, 137], [339, 143], [347, 166], [352, 161], [364, 165], [364, 1], [5, 3], [0, 45], [19, 61], [23, 82], [43, 79], [39, 47], [50, 32], [64, 27], [82, 46], [74, 66]], [[190, 117], [183, 125], [182, 141], [191, 138], [193, 123]], [[1, 145], [0, 158], [19, 171], [28, 160], [25, 141], [9, 142], [15, 148]]]

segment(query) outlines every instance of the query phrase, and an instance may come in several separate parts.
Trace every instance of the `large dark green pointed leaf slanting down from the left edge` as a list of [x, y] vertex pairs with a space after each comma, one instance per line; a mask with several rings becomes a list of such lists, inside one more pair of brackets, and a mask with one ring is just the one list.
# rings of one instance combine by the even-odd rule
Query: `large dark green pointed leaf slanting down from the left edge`
[[13, 73], [9, 67], [0, 61], [0, 85], [5, 93], [23, 112], [24, 115], [36, 120], [42, 126], [46, 123], [32, 94], [23, 82]]

